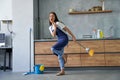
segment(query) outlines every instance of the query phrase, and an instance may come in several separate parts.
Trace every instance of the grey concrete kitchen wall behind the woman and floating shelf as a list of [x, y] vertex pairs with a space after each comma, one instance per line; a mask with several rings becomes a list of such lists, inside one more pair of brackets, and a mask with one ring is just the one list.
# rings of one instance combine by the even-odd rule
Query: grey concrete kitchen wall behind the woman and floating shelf
[[101, 2], [100, 0], [40, 0], [39, 17], [40, 32], [42, 33], [39, 36], [42, 35], [43, 38], [50, 37], [48, 15], [49, 12], [55, 11], [58, 18], [72, 30], [78, 39], [82, 38], [82, 35], [92, 34], [94, 28], [102, 29], [105, 37], [109, 37], [111, 26], [114, 28], [114, 37], [120, 37], [119, 3], [120, 0], [105, 0], [105, 9], [113, 10], [112, 13], [69, 15], [70, 8], [85, 11], [93, 6], [101, 6]]

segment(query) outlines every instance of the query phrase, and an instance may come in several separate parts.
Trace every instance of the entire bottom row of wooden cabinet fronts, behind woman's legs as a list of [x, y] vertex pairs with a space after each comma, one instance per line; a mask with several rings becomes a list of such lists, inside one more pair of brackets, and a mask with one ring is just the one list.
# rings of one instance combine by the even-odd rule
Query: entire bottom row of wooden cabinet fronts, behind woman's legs
[[[44, 64], [45, 67], [59, 67], [58, 58], [55, 55], [35, 55], [35, 64]], [[120, 66], [120, 53], [94, 54], [67, 54], [66, 67], [86, 66]]]

